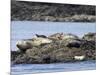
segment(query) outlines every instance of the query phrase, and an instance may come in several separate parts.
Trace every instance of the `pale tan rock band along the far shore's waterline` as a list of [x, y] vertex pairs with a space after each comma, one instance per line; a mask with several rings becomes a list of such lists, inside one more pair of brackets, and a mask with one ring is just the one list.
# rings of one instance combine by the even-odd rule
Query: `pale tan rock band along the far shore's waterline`
[[53, 17], [53, 16], [43, 16], [39, 18], [33, 18], [32, 20], [25, 19], [25, 20], [17, 20], [13, 19], [12, 21], [44, 21], [44, 22], [96, 22], [96, 16], [91, 16], [91, 15], [74, 15], [71, 17]]

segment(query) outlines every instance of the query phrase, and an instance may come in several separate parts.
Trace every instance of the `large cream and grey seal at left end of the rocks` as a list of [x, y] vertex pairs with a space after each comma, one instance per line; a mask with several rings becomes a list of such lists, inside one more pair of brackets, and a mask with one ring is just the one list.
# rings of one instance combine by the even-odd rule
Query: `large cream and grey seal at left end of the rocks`
[[31, 49], [34, 46], [40, 46], [43, 44], [48, 44], [51, 43], [52, 40], [48, 38], [33, 38], [33, 39], [26, 39], [26, 40], [20, 40], [17, 41], [16, 46], [21, 50], [21, 51], [26, 51], [27, 49]]

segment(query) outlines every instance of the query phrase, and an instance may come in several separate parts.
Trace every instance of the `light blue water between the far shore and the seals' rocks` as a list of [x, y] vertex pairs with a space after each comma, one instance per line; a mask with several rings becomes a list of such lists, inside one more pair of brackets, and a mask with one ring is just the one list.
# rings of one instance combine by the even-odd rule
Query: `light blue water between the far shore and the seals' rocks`
[[95, 23], [12, 21], [11, 50], [17, 50], [16, 41], [32, 38], [35, 34], [50, 35], [64, 32], [82, 37], [84, 33], [95, 32], [95, 28]]

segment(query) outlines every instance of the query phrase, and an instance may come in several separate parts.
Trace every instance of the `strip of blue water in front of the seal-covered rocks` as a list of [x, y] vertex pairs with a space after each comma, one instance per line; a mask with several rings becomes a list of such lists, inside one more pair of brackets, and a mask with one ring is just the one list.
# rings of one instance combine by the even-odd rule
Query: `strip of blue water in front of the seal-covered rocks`
[[56, 63], [56, 64], [19, 64], [12, 65], [11, 75], [24, 75], [34, 73], [68, 72], [95, 70], [95, 61], [82, 61], [75, 63]]

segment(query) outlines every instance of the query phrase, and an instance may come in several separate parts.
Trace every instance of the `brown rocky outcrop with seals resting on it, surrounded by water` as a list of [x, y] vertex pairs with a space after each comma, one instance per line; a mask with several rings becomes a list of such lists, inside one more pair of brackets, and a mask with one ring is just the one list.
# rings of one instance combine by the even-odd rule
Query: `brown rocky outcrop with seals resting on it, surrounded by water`
[[18, 51], [11, 51], [13, 64], [66, 63], [96, 59], [96, 34], [87, 33], [82, 38], [74, 34], [56, 33], [38, 35], [20, 40]]

